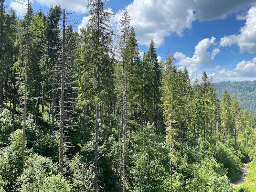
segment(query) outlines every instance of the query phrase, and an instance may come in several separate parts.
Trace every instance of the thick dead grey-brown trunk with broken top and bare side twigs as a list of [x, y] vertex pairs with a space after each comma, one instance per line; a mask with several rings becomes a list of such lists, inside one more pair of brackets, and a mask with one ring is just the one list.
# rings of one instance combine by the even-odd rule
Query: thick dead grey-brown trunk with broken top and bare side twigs
[[63, 130], [64, 130], [64, 76], [65, 76], [65, 9], [63, 9], [62, 30], [62, 61], [61, 61], [61, 95], [60, 95], [60, 146], [59, 146], [59, 174], [63, 170]]

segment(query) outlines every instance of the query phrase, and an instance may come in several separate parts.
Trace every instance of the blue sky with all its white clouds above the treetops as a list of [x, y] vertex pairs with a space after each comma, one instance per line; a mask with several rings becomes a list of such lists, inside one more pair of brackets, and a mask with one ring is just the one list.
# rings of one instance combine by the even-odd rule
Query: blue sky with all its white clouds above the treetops
[[[23, 0], [19, 0], [23, 1]], [[13, 0], [6, 5], [22, 16], [25, 9]], [[46, 14], [58, 3], [73, 10], [74, 30], [86, 27], [85, 0], [30, 0], [33, 9]], [[108, 0], [117, 30], [125, 9], [130, 14], [141, 54], [154, 40], [158, 59], [169, 48], [175, 65], [189, 71], [191, 81], [207, 72], [215, 82], [256, 80], [256, 0]]]

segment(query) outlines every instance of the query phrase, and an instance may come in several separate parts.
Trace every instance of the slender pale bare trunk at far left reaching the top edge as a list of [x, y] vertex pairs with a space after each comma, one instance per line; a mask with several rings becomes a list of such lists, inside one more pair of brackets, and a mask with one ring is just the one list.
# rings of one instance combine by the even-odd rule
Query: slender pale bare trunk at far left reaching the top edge
[[26, 113], [27, 113], [27, 76], [28, 76], [28, 25], [29, 25], [29, 0], [28, 0], [28, 17], [27, 17], [27, 40], [26, 40], [26, 64], [25, 64], [25, 98], [24, 98], [24, 118], [23, 118], [23, 140], [22, 140], [22, 172], [25, 160], [25, 133], [26, 133]]

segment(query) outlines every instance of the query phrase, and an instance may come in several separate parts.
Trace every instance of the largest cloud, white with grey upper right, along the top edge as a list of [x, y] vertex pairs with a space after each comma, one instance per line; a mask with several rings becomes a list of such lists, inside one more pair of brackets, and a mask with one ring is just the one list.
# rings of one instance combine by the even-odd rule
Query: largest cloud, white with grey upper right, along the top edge
[[[134, 0], [125, 8], [131, 15], [131, 25], [134, 27], [138, 41], [149, 45], [153, 38], [155, 46], [164, 44], [164, 38], [175, 33], [183, 35], [184, 29], [192, 28], [195, 20], [206, 21], [225, 18], [231, 13], [237, 13], [254, 0]], [[119, 22], [122, 12], [115, 14], [115, 22]]]

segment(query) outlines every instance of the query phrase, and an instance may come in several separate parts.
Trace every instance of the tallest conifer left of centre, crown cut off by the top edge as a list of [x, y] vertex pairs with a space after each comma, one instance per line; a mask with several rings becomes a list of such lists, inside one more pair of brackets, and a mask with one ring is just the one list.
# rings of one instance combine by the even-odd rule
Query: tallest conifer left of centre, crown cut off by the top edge
[[[89, 0], [90, 8], [88, 15], [89, 26], [92, 29], [94, 58], [91, 58], [92, 78], [95, 80], [94, 91], [96, 100], [95, 122], [95, 162], [94, 162], [94, 192], [98, 191], [98, 131], [99, 131], [99, 108], [105, 95], [102, 94], [108, 80], [111, 80], [113, 63], [109, 58], [110, 42], [113, 30], [110, 26], [111, 14], [104, 9], [106, 0]], [[113, 80], [113, 79], [112, 79]], [[113, 81], [112, 81], [113, 82]], [[111, 88], [110, 88], [111, 89]], [[106, 91], [107, 92], [107, 91]], [[102, 120], [102, 118], [100, 118]], [[101, 122], [102, 123], [102, 122]]]

